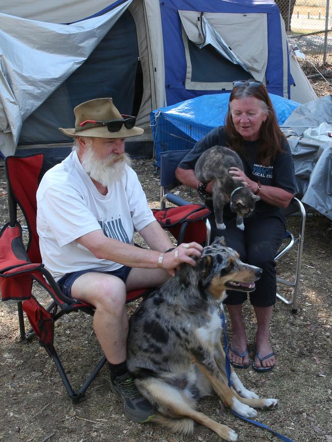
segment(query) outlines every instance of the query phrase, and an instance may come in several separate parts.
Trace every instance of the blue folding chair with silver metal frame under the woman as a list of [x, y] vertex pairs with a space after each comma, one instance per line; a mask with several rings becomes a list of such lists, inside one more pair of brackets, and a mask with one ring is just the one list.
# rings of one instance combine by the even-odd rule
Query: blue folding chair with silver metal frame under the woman
[[[169, 190], [174, 187], [177, 182], [175, 177], [175, 169], [178, 163], [184, 158], [184, 156], [190, 152], [190, 150], [182, 151], [167, 151], [160, 153], [160, 207], [165, 208], [166, 202], [173, 203], [177, 206], [183, 204], [190, 204], [188, 201], [183, 200]], [[282, 246], [281, 250], [278, 252], [274, 260], [277, 262], [284, 254], [289, 252], [294, 246], [297, 247], [297, 259], [295, 266], [294, 278], [286, 280], [284, 278], [277, 277], [277, 282], [279, 284], [284, 284], [293, 287], [292, 298], [287, 299], [281, 294], [277, 293], [277, 298], [287, 305], [292, 306], [292, 313], [297, 312], [297, 299], [300, 286], [300, 273], [301, 273], [301, 262], [302, 262], [302, 250], [304, 241], [304, 228], [305, 228], [305, 209], [303, 204], [298, 198], [293, 198], [291, 204], [287, 209], [284, 210], [286, 216], [297, 216], [299, 217], [299, 227], [297, 234], [294, 236], [289, 230], [286, 231], [284, 236], [285, 245]], [[208, 222], [208, 219], [206, 220]], [[209, 223], [206, 224], [206, 240], [205, 244], [210, 243], [210, 226]]]

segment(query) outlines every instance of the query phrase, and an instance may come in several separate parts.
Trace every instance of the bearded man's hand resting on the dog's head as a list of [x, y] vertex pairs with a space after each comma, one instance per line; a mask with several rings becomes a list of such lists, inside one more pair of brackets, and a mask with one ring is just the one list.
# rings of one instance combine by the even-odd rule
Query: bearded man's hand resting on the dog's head
[[203, 247], [198, 242], [189, 242], [178, 245], [172, 252], [164, 253], [162, 255], [161, 267], [166, 269], [171, 276], [175, 276], [175, 268], [182, 262], [186, 262], [192, 266], [196, 265], [193, 256], [199, 258], [202, 254]]

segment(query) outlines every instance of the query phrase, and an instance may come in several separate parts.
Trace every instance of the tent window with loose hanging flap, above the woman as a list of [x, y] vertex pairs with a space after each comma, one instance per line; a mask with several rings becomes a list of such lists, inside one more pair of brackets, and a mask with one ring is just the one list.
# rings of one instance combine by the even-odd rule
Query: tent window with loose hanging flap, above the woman
[[229, 90], [235, 77], [264, 82], [268, 61], [266, 14], [178, 13], [187, 64], [186, 89]]

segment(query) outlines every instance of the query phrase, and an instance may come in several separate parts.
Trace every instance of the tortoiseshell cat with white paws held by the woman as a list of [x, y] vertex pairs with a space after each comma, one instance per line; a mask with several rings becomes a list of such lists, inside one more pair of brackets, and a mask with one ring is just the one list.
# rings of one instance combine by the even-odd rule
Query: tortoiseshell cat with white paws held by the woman
[[226, 229], [223, 210], [225, 204], [230, 202], [230, 210], [236, 213], [236, 227], [244, 230], [243, 217], [254, 210], [260, 198], [241, 182], [233, 180], [229, 174], [230, 167], [243, 170], [241, 158], [231, 149], [214, 146], [203, 152], [195, 166], [196, 177], [202, 183], [214, 180], [214, 184], [212, 195], [199, 196], [206, 206], [213, 204], [218, 229]]

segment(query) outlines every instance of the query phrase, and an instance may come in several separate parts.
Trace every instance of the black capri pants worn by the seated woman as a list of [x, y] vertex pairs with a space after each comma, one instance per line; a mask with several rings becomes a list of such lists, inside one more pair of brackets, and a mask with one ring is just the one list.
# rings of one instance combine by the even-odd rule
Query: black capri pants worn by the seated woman
[[[281, 211], [280, 215], [252, 212], [244, 218], [244, 231], [236, 227], [233, 215], [232, 218], [224, 216], [225, 230], [217, 229], [215, 219], [211, 217], [212, 238], [223, 236], [227, 247], [236, 250], [243, 262], [263, 269], [263, 274], [255, 282], [256, 288], [249, 292], [249, 297], [255, 307], [270, 307], [275, 304], [277, 290], [274, 257], [286, 231]], [[227, 290], [227, 294], [225, 304], [238, 305], [247, 299], [246, 292]]]

